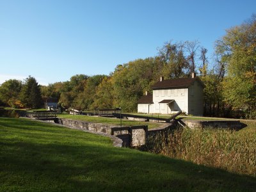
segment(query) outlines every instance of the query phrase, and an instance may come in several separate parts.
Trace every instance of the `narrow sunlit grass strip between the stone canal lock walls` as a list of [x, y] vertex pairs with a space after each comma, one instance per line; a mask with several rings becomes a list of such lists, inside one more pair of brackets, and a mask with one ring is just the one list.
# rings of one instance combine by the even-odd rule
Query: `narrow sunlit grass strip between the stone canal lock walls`
[[[101, 117], [101, 116], [86, 116], [86, 115], [68, 115], [68, 114], [60, 114], [60, 115], [58, 115], [58, 117], [120, 126], [120, 119], [118, 119], [118, 118], [108, 118], [108, 117]], [[148, 129], [152, 129], [152, 128], [159, 127], [163, 124], [155, 123], [155, 122], [138, 122], [138, 121], [134, 121], [134, 120], [122, 119], [122, 126], [137, 126], [137, 125], [148, 125]]]

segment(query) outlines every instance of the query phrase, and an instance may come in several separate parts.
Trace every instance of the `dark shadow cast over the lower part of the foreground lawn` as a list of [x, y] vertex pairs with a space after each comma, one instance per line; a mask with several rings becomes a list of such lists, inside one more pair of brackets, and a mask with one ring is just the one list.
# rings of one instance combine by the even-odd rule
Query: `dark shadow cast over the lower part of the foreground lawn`
[[[54, 186], [52, 190], [70, 188], [99, 191], [256, 189], [256, 179], [253, 177], [125, 148], [23, 142], [5, 143], [4, 148], [8, 150], [1, 150], [1, 172], [6, 173], [8, 178], [2, 176], [2, 183], [12, 180], [12, 175], [22, 175], [29, 183], [33, 182], [38, 188], [47, 190], [51, 190], [48, 186]], [[24, 184], [20, 189], [27, 187]]]

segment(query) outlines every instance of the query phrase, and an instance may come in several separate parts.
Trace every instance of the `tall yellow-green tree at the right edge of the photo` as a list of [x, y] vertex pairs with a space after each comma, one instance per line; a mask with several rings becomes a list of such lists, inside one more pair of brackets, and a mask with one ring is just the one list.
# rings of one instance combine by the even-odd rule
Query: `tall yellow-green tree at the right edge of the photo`
[[225, 101], [233, 108], [256, 110], [256, 15], [227, 30], [216, 42], [221, 62], [227, 63], [223, 81]]

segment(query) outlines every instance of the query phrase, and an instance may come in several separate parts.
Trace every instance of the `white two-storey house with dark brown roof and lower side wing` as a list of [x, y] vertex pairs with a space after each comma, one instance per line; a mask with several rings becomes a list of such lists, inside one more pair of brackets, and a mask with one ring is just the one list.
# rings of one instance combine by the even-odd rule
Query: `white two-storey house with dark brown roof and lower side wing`
[[138, 113], [172, 114], [179, 111], [189, 115], [204, 113], [204, 83], [192, 74], [190, 78], [160, 81], [152, 86], [153, 95], [138, 100]]

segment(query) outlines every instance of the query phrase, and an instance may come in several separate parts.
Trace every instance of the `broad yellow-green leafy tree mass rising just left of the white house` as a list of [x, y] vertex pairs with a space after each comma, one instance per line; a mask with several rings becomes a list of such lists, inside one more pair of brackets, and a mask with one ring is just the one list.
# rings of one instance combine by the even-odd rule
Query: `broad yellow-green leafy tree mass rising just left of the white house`
[[116, 107], [136, 111], [138, 99], [159, 80], [161, 63], [156, 57], [118, 65], [112, 77]]

